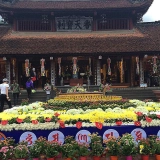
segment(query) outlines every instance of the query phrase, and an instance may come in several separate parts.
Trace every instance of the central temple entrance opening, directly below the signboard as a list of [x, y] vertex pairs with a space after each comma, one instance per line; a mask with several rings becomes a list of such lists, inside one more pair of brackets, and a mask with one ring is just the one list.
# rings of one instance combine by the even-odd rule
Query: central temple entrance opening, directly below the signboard
[[63, 57], [57, 60], [57, 85], [72, 86], [76, 84], [87, 85], [93, 83], [93, 60], [89, 57]]

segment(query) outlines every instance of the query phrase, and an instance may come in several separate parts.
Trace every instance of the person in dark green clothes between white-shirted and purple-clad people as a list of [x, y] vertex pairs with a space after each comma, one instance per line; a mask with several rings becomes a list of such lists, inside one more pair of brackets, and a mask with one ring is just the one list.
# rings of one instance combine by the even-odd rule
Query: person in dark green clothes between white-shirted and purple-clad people
[[12, 94], [13, 94], [14, 106], [16, 106], [18, 104], [19, 95], [21, 93], [20, 93], [19, 84], [16, 83], [15, 80], [13, 80], [13, 84], [11, 85], [11, 90], [12, 90]]

